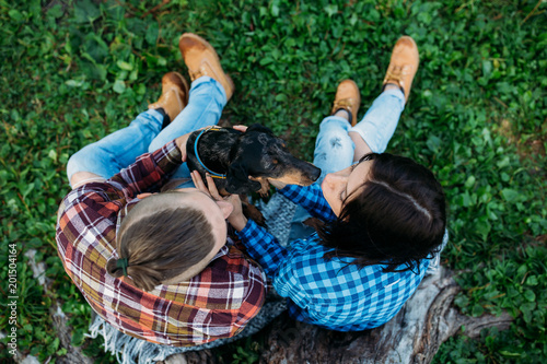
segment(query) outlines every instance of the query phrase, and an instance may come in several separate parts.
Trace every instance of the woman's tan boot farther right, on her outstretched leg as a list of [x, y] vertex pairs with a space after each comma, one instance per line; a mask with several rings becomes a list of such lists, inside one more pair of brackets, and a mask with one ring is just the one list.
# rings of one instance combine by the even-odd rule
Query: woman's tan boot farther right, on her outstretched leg
[[383, 82], [384, 87], [387, 83], [399, 86], [405, 93], [406, 103], [419, 63], [420, 55], [416, 42], [406, 35], [400, 37], [393, 47], [392, 59]]

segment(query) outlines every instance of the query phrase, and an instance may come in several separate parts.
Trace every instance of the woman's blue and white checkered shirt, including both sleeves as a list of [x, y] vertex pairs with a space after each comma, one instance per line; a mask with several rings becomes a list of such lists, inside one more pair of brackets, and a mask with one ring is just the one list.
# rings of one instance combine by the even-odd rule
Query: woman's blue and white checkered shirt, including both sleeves
[[[287, 186], [283, 196], [326, 222], [336, 219], [321, 186]], [[237, 234], [247, 253], [274, 280], [274, 287], [288, 297], [289, 314], [296, 320], [338, 331], [379, 327], [392, 319], [416, 291], [429, 265], [417, 270], [383, 272], [384, 265], [359, 268], [353, 258], [325, 260], [333, 250], [319, 243], [316, 233], [298, 239], [287, 249], [266, 230], [249, 220]]]

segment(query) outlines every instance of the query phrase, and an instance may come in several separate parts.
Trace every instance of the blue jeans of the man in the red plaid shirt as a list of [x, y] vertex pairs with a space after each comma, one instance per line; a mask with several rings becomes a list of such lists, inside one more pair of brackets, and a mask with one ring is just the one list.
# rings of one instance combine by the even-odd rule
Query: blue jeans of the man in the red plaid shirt
[[[100, 141], [86, 145], [73, 154], [67, 164], [67, 176], [77, 172], [91, 172], [105, 179], [110, 178], [147, 152], [153, 152], [170, 141], [196, 129], [217, 125], [226, 104], [226, 94], [220, 83], [202, 77], [191, 83], [188, 105], [163, 130], [163, 117], [156, 110], [148, 110], [131, 124]], [[186, 163], [174, 178], [190, 178]], [[191, 180], [183, 187], [194, 187]]]

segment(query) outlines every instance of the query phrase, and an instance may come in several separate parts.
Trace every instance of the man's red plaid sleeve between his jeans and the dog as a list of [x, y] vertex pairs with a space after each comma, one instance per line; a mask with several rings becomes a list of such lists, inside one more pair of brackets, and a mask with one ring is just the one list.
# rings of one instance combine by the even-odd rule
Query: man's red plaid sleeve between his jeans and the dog
[[130, 196], [161, 188], [181, 166], [183, 154], [175, 141], [171, 141], [153, 153], [144, 153], [127, 168], [107, 181], [116, 184]]

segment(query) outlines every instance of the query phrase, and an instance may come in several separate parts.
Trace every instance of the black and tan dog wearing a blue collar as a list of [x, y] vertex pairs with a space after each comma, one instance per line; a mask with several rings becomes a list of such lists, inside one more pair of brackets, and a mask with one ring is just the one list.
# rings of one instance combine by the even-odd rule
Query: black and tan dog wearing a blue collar
[[282, 139], [258, 124], [246, 132], [220, 127], [197, 130], [188, 138], [186, 153], [188, 168], [197, 169], [203, 180], [209, 173], [221, 195], [267, 195], [267, 179], [309, 186], [321, 174], [313, 164], [289, 153]]

